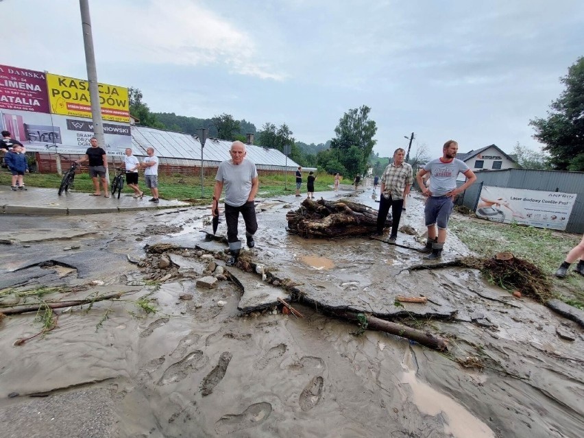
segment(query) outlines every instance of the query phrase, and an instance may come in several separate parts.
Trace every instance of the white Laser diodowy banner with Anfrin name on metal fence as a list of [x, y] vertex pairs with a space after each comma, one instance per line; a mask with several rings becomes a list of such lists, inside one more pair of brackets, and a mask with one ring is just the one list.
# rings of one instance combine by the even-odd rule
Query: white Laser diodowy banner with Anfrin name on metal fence
[[483, 186], [476, 215], [489, 221], [565, 230], [576, 193]]

